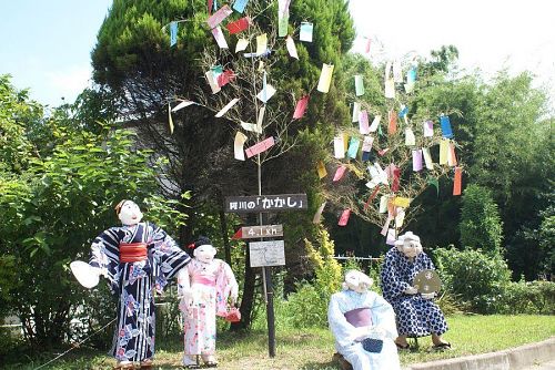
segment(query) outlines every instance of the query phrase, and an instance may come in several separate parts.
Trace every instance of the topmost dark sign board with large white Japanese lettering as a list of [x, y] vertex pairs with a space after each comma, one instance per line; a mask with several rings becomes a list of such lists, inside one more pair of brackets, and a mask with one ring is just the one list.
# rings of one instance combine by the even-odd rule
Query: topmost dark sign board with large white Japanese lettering
[[226, 196], [225, 212], [258, 213], [307, 209], [306, 194]]

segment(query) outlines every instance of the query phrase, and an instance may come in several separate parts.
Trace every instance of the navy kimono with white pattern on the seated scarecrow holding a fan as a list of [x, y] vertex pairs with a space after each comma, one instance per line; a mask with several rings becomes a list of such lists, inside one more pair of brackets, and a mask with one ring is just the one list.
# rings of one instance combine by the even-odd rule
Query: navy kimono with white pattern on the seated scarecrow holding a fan
[[447, 331], [447, 322], [440, 307], [420, 294], [407, 295], [405, 289], [413, 286], [416, 274], [424, 269], [434, 269], [434, 264], [425, 253], [418, 254], [413, 261], [397, 248], [391, 248], [382, 266], [382, 291], [393, 306], [397, 317], [397, 330], [401, 336], [438, 336]]

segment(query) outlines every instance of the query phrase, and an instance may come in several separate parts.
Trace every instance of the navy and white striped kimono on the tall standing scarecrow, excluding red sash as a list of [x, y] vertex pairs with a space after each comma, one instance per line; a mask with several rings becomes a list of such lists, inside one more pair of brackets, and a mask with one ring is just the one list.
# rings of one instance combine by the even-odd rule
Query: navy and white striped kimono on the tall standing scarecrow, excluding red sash
[[[147, 260], [120, 261], [120, 243], [145, 243]], [[191, 258], [160, 227], [150, 223], [111, 227], [92, 243], [89, 264], [100, 267], [119, 296], [111, 354], [118, 361], [145, 361], [154, 356], [155, 311], [152, 289], [162, 291]]]

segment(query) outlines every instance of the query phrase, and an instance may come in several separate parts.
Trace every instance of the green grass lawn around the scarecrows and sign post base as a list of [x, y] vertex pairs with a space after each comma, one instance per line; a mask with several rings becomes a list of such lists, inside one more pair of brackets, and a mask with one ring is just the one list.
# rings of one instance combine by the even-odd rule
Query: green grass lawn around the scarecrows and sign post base
[[[553, 316], [467, 316], [447, 318], [450, 331], [445, 339], [453, 350], [435, 352], [430, 337], [418, 339], [420, 348], [401, 353], [402, 364], [492, 352], [547, 339], [555, 336]], [[158, 343], [157, 369], [179, 369], [182, 357], [180, 338]], [[284, 329], [276, 327], [276, 356], [268, 356], [268, 337], [263, 330], [238, 335], [222, 332], [218, 339], [218, 369], [339, 369], [332, 362], [333, 337], [327, 329]], [[19, 364], [4, 369], [34, 369], [56, 353], [46, 353], [42, 361], [21, 358]], [[71, 351], [42, 369], [111, 369], [114, 361], [108, 356], [85, 348]]]

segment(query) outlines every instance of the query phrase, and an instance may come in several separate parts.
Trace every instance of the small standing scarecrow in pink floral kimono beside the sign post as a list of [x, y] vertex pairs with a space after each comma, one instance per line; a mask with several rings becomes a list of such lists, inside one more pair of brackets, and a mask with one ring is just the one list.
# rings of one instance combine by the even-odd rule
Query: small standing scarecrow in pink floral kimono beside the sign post
[[201, 236], [189, 247], [194, 258], [178, 275], [184, 321], [183, 366], [199, 367], [201, 356], [204, 364], [214, 367], [216, 315], [228, 315], [230, 305], [238, 299], [239, 286], [230, 265], [214, 258], [216, 250], [209, 238]]

